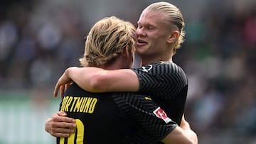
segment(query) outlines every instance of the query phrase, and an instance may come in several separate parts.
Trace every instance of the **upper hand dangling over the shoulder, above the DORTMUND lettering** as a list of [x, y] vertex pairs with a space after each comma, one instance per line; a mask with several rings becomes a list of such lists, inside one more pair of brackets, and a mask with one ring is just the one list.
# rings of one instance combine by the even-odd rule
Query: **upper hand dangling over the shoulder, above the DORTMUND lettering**
[[[69, 69], [69, 68], [68, 68]], [[58, 90], [60, 89], [60, 98], [63, 99], [65, 90], [73, 84], [73, 80], [68, 77], [68, 69], [65, 70], [63, 75], [58, 79], [57, 84], [55, 84], [53, 96], [58, 96]]]

